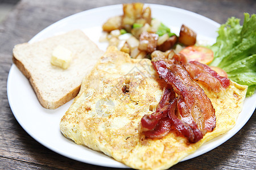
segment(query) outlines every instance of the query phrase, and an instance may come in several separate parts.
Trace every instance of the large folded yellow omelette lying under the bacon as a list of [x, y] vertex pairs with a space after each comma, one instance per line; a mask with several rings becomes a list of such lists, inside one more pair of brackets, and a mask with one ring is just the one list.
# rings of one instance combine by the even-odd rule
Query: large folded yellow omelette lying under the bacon
[[60, 122], [61, 133], [134, 169], [167, 169], [203, 143], [236, 124], [247, 86], [230, 82], [220, 92], [200, 84], [212, 102], [216, 128], [196, 143], [170, 131], [161, 139], [145, 138], [141, 119], [155, 112], [164, 89], [150, 59], [132, 59], [110, 46], [86, 75], [81, 90]]

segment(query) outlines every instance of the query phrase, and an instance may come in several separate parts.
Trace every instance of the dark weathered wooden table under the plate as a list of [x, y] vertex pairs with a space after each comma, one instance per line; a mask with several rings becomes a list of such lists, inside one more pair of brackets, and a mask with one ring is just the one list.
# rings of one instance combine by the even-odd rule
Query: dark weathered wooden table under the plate
[[[15, 44], [27, 42], [36, 33], [57, 20], [90, 8], [132, 1], [29, 1], [15, 6], [0, 24], [0, 169], [113, 169], [65, 158], [40, 145], [18, 124], [11, 112], [6, 92]], [[256, 1], [175, 0], [141, 1], [190, 10], [225, 23], [230, 16], [243, 18], [243, 12], [256, 12]], [[178, 163], [172, 169], [256, 169], [256, 115], [221, 146], [197, 158]]]

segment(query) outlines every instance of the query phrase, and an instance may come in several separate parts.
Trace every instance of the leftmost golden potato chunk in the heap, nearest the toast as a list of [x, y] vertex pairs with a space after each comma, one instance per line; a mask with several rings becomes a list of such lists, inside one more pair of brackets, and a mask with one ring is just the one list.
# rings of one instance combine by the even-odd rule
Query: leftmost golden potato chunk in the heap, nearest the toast
[[120, 29], [122, 25], [122, 16], [114, 16], [109, 18], [103, 25], [102, 29], [106, 32], [111, 32], [115, 29]]

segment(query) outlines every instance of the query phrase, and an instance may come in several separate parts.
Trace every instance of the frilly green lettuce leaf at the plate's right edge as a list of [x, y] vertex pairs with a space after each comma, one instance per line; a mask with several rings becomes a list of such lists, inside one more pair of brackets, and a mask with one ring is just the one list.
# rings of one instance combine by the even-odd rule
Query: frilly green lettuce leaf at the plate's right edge
[[229, 18], [218, 29], [216, 43], [210, 46], [214, 59], [211, 66], [225, 70], [229, 79], [247, 85], [246, 96], [256, 90], [256, 15], [244, 14], [240, 19]]

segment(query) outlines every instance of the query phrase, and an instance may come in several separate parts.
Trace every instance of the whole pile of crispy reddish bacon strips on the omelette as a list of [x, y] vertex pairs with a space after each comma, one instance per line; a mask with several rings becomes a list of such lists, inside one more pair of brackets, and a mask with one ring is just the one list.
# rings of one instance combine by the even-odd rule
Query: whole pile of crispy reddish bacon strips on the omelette
[[193, 79], [208, 84], [216, 92], [227, 88], [229, 79], [218, 75], [207, 65], [188, 62], [179, 53], [172, 59], [152, 61], [152, 65], [168, 88], [165, 88], [156, 112], [142, 118], [145, 136], [162, 138], [176, 129], [189, 142], [199, 141], [215, 128], [216, 116], [209, 98]]

